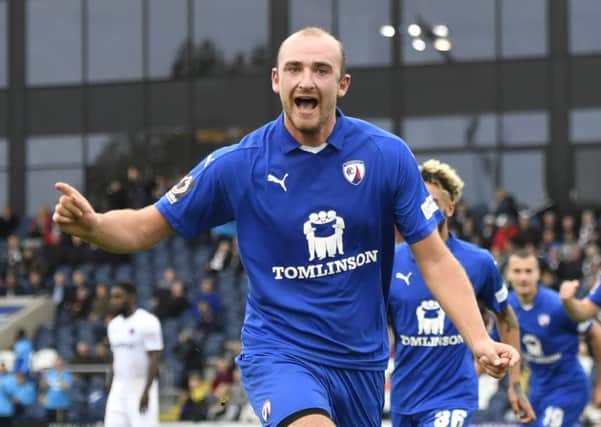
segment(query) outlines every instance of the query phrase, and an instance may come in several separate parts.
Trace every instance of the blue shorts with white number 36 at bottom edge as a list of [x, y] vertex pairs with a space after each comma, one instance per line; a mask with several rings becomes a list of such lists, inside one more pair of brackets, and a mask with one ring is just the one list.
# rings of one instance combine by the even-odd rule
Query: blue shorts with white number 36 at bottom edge
[[476, 411], [449, 407], [436, 408], [429, 411], [406, 415], [391, 412], [392, 427], [462, 427], [469, 426], [472, 416]]

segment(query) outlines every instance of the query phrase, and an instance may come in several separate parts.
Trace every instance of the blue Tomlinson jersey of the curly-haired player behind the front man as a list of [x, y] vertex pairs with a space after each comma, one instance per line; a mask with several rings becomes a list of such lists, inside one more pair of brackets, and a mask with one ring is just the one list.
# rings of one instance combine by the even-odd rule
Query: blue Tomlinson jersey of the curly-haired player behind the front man
[[[507, 288], [484, 249], [457, 239], [449, 250], [465, 269], [478, 300], [498, 313], [507, 306]], [[415, 414], [454, 404], [478, 408], [478, 379], [471, 351], [426, 286], [409, 245], [397, 246], [390, 287], [395, 334], [391, 410]]]

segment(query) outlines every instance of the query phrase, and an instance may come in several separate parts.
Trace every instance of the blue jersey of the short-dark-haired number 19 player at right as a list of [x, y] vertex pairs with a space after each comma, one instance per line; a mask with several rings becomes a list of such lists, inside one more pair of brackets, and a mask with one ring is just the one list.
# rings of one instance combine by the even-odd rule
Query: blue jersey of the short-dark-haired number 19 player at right
[[578, 361], [578, 347], [579, 334], [589, 331], [591, 321], [574, 322], [565, 312], [559, 294], [543, 286], [538, 287], [532, 305], [520, 305], [514, 292], [509, 295], [509, 304], [520, 323], [522, 354], [531, 371], [532, 403], [536, 405], [537, 400], [554, 394], [562, 402], [566, 391], [590, 390], [590, 381]]

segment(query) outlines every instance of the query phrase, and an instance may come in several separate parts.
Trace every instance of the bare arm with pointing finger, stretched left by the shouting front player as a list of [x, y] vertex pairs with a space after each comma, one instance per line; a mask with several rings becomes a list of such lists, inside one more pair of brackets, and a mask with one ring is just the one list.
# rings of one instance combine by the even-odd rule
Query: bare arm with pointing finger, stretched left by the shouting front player
[[173, 234], [172, 228], [153, 206], [98, 213], [69, 184], [59, 182], [62, 193], [54, 208], [53, 221], [68, 234], [115, 253], [149, 249]]

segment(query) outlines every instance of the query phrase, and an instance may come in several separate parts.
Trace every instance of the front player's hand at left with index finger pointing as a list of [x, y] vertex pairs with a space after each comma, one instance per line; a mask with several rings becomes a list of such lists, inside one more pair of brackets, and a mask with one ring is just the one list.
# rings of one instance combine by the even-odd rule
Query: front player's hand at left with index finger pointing
[[54, 207], [52, 220], [65, 233], [85, 239], [98, 223], [98, 217], [88, 200], [79, 191], [63, 182], [54, 187], [62, 194]]

